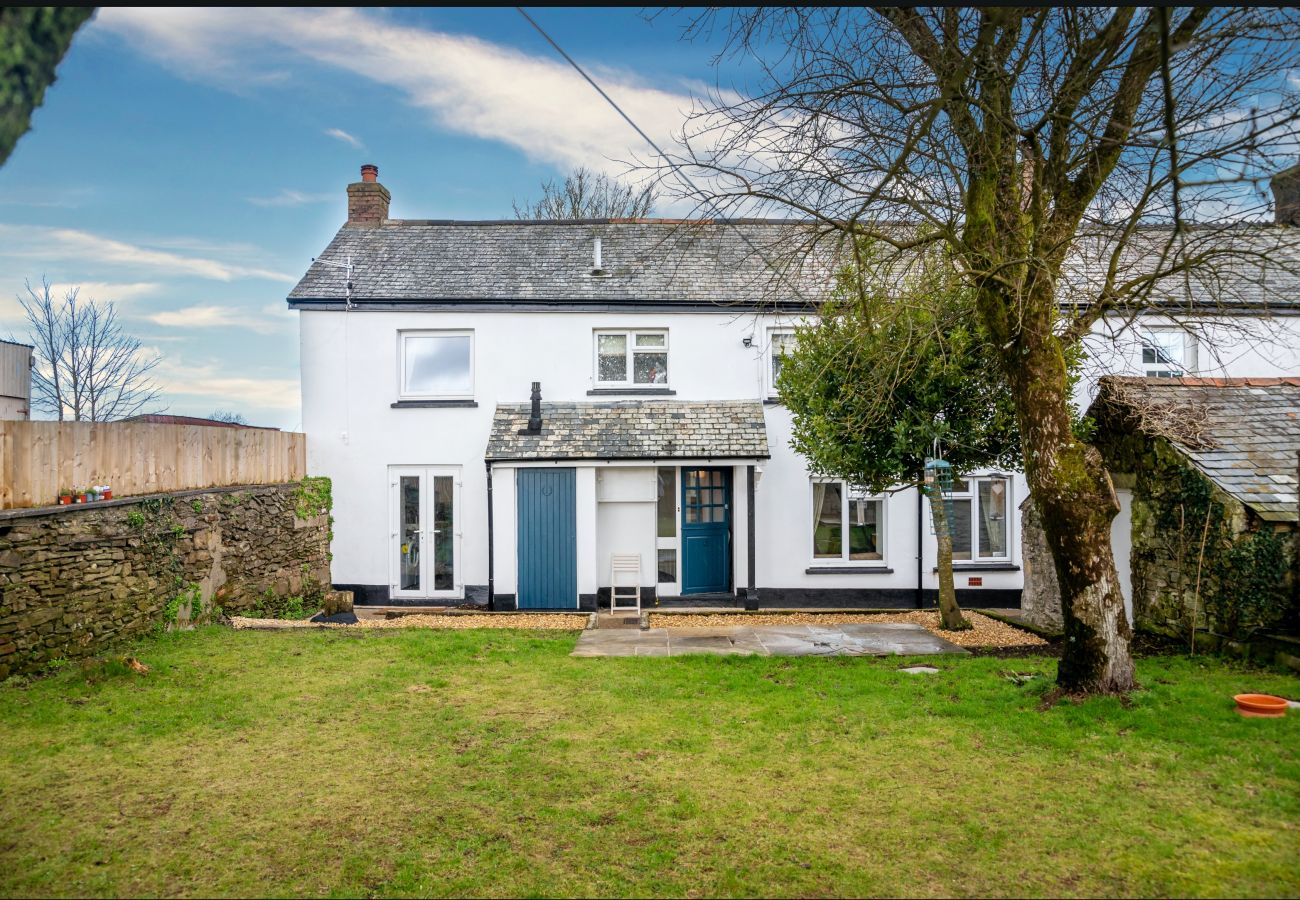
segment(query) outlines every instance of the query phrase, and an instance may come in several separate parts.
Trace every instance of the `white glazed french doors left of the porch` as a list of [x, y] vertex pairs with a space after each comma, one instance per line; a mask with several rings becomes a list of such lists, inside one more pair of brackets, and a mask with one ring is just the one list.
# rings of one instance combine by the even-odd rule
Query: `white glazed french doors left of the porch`
[[389, 593], [395, 600], [463, 597], [460, 468], [390, 466]]

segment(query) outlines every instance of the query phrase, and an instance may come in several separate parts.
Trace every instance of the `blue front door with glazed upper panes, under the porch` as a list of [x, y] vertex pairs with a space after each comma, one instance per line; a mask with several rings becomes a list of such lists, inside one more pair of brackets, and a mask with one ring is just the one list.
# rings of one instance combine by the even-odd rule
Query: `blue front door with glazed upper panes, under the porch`
[[681, 470], [681, 593], [731, 592], [731, 470]]

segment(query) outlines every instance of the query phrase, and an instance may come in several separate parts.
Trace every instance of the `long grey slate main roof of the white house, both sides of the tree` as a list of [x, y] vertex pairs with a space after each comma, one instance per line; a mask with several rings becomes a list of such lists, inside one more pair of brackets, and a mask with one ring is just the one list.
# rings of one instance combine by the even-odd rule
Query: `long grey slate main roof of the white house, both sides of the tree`
[[[599, 274], [592, 272], [595, 238]], [[351, 259], [359, 304], [807, 306], [829, 295], [837, 239], [797, 220], [385, 220], [341, 228], [289, 300], [347, 299], [341, 265]], [[1096, 299], [1110, 246], [1108, 234], [1079, 237], [1058, 284], [1062, 306]], [[1232, 258], [1162, 280], [1143, 304], [1300, 311], [1300, 229], [1197, 226], [1175, 238], [1167, 228], [1141, 228], [1118, 260], [1118, 281], [1140, 280], [1170, 247], [1180, 258]], [[792, 248], [809, 251], [798, 267]]]

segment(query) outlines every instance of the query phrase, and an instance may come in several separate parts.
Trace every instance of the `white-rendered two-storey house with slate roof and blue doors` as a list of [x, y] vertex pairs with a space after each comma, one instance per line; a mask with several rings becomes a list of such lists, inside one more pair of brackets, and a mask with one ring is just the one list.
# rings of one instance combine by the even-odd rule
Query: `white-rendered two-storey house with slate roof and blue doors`
[[[339, 588], [593, 607], [629, 555], [666, 605], [933, 603], [918, 492], [814, 477], [789, 446], [774, 377], [828, 280], [755, 248], [803, 224], [400, 220], [377, 176], [347, 187], [347, 221], [289, 295]], [[1104, 319], [1097, 346], [1113, 372], [1277, 375], [1300, 346], [1284, 312], [1282, 363], [1212, 352], [1236, 346], [1231, 316], [1153, 316], [1121, 341]], [[1023, 476], [956, 488], [958, 600], [1017, 606]]]

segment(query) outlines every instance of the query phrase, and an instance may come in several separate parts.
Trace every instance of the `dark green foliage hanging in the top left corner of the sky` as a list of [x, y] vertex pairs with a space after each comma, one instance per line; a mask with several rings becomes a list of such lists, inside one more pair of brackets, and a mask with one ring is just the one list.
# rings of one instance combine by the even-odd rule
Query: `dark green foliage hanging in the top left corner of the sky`
[[94, 13], [94, 7], [0, 7], [0, 165], [31, 127], [58, 61]]

